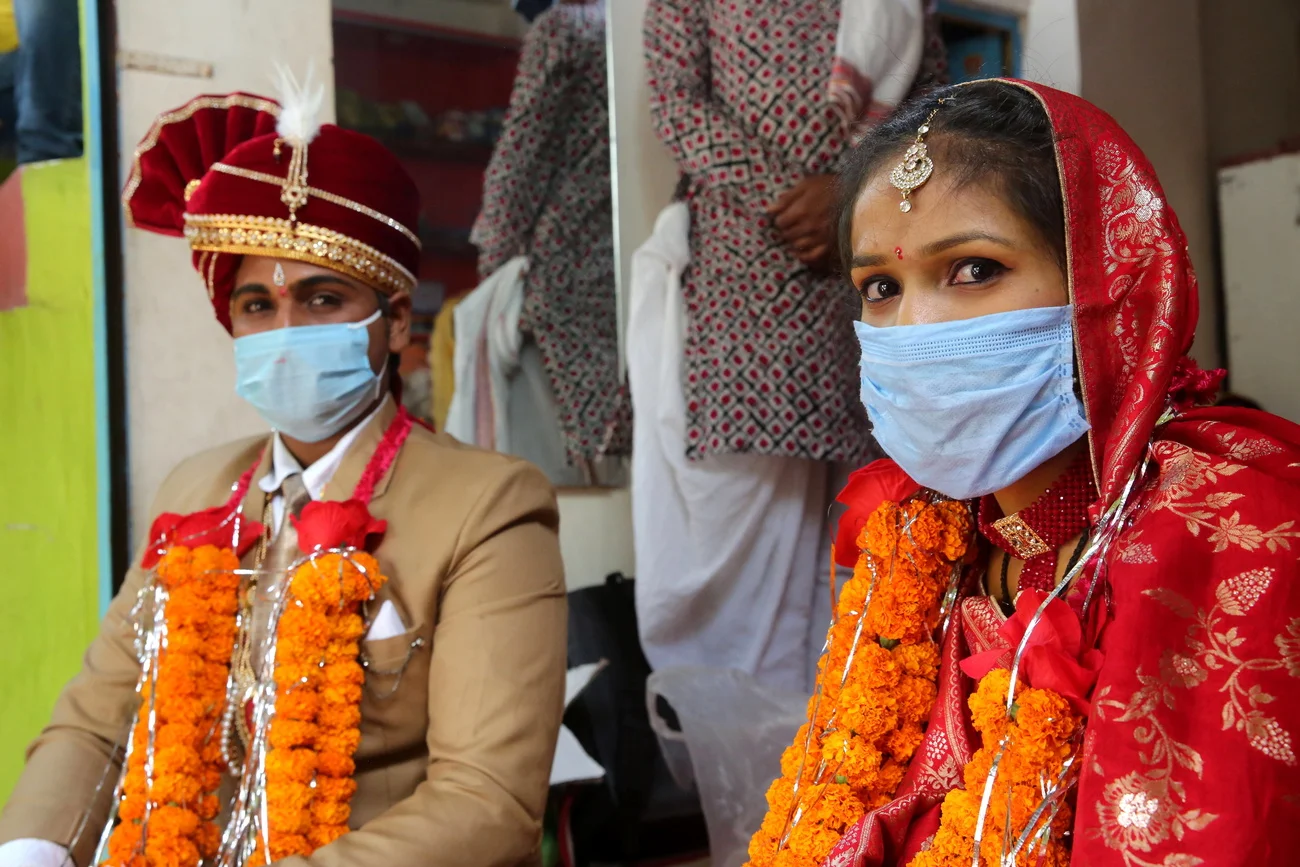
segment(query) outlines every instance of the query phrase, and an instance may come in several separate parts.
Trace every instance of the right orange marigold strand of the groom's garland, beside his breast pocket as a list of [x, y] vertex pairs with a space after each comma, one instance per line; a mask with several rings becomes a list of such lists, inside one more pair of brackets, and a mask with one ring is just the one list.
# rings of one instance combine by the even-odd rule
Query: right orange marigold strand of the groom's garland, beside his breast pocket
[[[360, 604], [384, 584], [364, 551], [303, 562], [276, 633], [276, 714], [266, 753], [273, 861], [309, 855], [347, 833], [361, 740]], [[247, 867], [264, 864], [259, 848]]]

